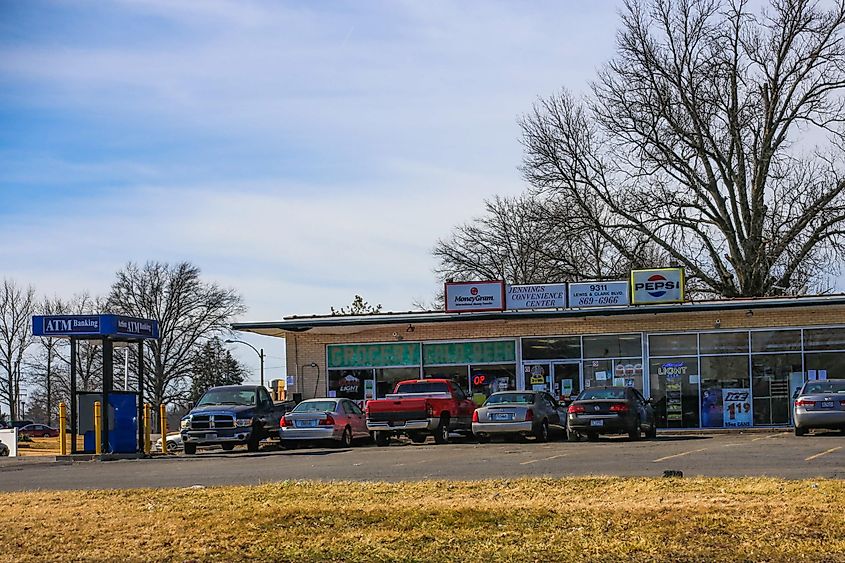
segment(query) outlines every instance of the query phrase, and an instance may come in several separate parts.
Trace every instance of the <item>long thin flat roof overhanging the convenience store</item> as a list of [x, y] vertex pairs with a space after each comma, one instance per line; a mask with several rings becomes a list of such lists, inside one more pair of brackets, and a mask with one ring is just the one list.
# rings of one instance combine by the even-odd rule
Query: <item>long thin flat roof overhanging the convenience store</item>
[[589, 307], [582, 309], [531, 309], [446, 313], [444, 311], [386, 312], [371, 315], [312, 315], [284, 317], [280, 321], [233, 323], [233, 330], [254, 332], [267, 336], [313, 331], [323, 334], [358, 332], [364, 328], [423, 323], [460, 323], [498, 320], [566, 319], [578, 317], [613, 317], [621, 315], [654, 315], [660, 313], [699, 313], [736, 309], [784, 309], [845, 305], [845, 294], [809, 295], [799, 297], [757, 297], [689, 301], [669, 305], [632, 305], [624, 307]]

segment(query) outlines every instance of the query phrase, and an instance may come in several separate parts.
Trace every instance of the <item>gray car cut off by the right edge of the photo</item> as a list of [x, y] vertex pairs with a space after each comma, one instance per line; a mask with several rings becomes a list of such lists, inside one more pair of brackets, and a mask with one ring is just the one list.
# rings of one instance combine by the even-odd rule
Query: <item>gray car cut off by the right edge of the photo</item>
[[795, 397], [792, 410], [795, 435], [811, 428], [845, 432], [845, 379], [808, 381]]

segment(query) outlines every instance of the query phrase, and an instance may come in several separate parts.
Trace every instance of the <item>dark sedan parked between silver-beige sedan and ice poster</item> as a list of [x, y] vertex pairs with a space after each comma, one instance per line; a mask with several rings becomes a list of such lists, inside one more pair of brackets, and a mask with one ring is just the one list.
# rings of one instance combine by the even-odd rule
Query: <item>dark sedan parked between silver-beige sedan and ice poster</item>
[[590, 387], [584, 389], [567, 409], [567, 435], [595, 440], [599, 434], [628, 434], [639, 440], [642, 432], [657, 436], [651, 401], [633, 387]]

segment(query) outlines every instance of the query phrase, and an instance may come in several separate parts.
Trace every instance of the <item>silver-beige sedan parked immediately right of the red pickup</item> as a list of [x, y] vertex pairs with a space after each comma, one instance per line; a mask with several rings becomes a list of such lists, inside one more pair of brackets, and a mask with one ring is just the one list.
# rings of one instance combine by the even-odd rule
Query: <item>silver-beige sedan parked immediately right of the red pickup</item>
[[545, 442], [552, 432], [566, 433], [566, 409], [542, 391], [499, 391], [472, 414], [472, 433], [479, 442], [501, 435], [530, 435]]

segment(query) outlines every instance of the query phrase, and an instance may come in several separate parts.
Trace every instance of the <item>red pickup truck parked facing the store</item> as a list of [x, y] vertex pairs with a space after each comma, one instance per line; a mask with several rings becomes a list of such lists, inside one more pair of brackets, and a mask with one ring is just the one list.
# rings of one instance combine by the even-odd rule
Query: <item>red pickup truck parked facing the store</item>
[[433, 434], [435, 443], [445, 444], [449, 432], [472, 433], [475, 409], [463, 389], [448, 379], [410, 379], [397, 383], [384, 399], [367, 401], [367, 429], [378, 446], [398, 434], [415, 444]]

